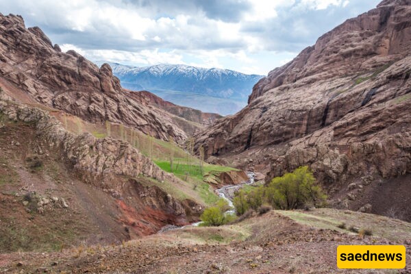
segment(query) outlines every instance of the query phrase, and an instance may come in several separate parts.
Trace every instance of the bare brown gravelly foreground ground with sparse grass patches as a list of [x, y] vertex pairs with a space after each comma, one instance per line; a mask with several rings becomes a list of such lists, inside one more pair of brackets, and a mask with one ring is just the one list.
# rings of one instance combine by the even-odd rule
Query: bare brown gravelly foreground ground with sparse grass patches
[[[373, 236], [338, 228], [368, 227]], [[340, 270], [338, 245], [406, 245], [407, 266]], [[55, 253], [0, 255], [1, 273], [410, 273], [411, 224], [373, 214], [319, 209], [271, 211], [222, 227], [185, 227], [123, 242]]]

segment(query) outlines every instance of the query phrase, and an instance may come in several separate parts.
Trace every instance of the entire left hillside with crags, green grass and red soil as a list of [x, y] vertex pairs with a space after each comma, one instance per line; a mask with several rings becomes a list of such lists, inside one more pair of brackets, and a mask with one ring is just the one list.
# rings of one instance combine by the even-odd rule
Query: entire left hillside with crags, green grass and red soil
[[[218, 199], [203, 175], [233, 169], [199, 174], [178, 147], [202, 127], [171, 114], [186, 108], [134, 97], [108, 64], [61, 53], [20, 16], [0, 22], [1, 253], [140, 238], [198, 221]], [[164, 171], [171, 160], [175, 175]]]

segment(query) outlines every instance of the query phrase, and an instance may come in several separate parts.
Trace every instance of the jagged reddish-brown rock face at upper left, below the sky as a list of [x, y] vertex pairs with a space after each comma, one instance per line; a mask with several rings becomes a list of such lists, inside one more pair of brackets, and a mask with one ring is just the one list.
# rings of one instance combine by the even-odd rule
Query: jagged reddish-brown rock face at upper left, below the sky
[[108, 64], [98, 68], [75, 51], [62, 53], [21, 16], [0, 14], [0, 77], [29, 96], [93, 123], [112, 121], [156, 138], [186, 138], [168, 112], [147, 108], [123, 92]]

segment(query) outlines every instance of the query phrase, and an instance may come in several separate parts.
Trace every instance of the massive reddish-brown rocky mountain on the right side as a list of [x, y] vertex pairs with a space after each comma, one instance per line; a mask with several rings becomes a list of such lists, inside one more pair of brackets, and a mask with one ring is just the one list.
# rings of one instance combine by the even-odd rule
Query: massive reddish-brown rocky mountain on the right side
[[411, 1], [386, 0], [327, 32], [199, 132], [197, 149], [267, 181], [309, 165], [336, 206], [410, 220], [410, 18]]

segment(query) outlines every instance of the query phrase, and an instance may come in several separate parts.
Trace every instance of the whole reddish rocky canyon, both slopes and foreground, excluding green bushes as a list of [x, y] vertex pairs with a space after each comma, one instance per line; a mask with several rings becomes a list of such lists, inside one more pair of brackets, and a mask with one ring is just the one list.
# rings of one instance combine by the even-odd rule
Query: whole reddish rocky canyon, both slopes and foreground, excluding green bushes
[[[410, 262], [410, 18], [410, 0], [382, 1], [221, 116], [123, 88], [0, 14], [0, 273], [335, 273], [338, 245], [405, 245]], [[196, 226], [300, 166], [326, 207]]]

